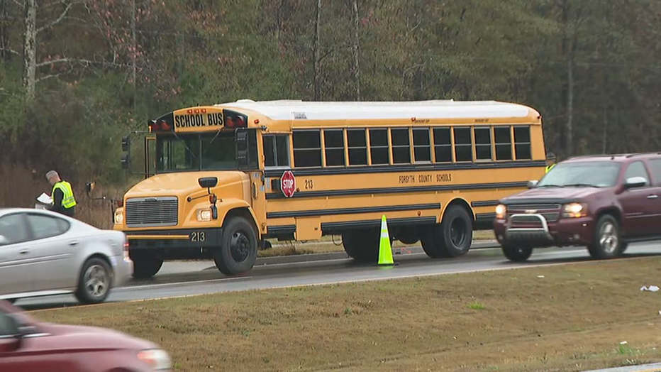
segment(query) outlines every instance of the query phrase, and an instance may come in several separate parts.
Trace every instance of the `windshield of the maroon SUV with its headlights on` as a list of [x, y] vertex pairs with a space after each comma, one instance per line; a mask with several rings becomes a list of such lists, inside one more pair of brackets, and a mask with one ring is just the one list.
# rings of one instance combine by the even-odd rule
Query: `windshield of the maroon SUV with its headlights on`
[[606, 162], [560, 163], [537, 187], [611, 187], [617, 181], [620, 165]]

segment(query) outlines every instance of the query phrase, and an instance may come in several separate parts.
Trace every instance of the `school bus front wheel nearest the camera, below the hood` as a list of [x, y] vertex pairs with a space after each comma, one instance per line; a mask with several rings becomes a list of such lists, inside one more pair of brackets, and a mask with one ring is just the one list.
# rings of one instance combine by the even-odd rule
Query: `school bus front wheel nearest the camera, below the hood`
[[257, 233], [250, 221], [233, 217], [223, 228], [220, 248], [213, 251], [213, 261], [225, 275], [248, 273], [257, 260]]

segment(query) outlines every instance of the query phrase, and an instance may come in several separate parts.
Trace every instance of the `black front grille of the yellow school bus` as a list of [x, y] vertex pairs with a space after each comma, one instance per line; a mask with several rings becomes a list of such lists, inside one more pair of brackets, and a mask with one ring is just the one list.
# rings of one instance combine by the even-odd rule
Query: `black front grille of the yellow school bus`
[[126, 226], [176, 226], [177, 210], [177, 197], [133, 197], [126, 200]]

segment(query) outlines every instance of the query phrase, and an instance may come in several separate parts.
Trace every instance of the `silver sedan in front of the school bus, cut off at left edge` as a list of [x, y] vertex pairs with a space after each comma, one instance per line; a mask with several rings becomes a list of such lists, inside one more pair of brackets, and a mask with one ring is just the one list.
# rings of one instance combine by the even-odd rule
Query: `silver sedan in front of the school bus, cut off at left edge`
[[106, 300], [133, 272], [121, 231], [38, 209], [0, 209], [0, 300], [73, 293]]

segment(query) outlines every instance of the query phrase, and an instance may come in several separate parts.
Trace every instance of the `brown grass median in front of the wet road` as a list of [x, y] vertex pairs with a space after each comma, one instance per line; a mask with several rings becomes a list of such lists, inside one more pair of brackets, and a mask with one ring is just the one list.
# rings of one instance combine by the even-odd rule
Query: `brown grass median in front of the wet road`
[[658, 284], [660, 263], [236, 292], [35, 316], [150, 339], [172, 354], [177, 371], [584, 371], [661, 359], [660, 297], [639, 290]]

